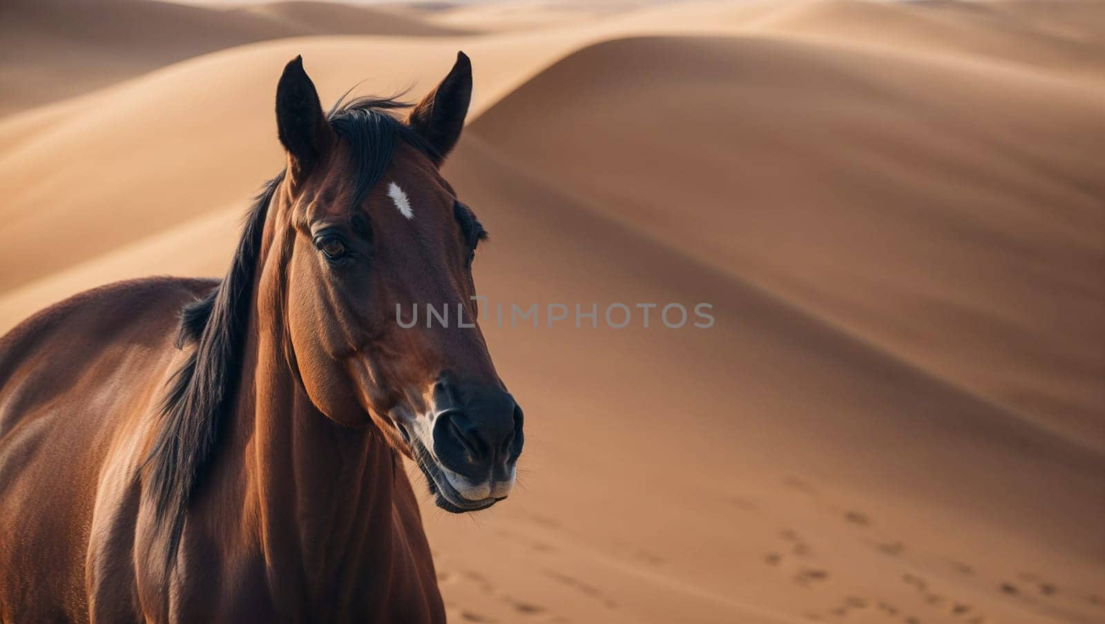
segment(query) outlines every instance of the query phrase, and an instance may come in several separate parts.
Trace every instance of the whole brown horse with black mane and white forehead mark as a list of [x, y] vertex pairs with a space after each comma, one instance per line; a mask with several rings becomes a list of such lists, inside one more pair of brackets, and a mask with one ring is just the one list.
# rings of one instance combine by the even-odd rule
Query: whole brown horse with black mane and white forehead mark
[[[221, 282], [104, 286], [0, 339], [0, 622], [444, 621], [399, 454], [463, 512], [523, 443], [474, 326], [485, 234], [439, 173], [471, 93], [462, 53], [406, 120], [327, 115], [295, 59], [287, 166]], [[398, 322], [445, 304], [463, 324]]]

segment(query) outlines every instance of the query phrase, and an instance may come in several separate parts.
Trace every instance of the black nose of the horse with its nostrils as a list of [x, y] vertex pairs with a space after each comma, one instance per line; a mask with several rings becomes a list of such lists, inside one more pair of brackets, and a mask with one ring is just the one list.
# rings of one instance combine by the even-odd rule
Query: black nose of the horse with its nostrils
[[506, 466], [522, 454], [523, 417], [514, 398], [496, 391], [442, 413], [434, 424], [434, 446], [442, 459], [463, 459], [467, 467], [481, 472]]

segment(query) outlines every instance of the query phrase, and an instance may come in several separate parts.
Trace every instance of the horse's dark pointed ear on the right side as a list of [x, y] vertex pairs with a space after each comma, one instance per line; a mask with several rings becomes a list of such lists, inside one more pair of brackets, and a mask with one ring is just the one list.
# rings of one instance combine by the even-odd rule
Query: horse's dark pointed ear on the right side
[[456, 139], [461, 138], [471, 99], [472, 62], [466, 54], [457, 52], [456, 63], [445, 80], [418, 103], [407, 119], [410, 127], [433, 149], [431, 157], [438, 165], [452, 151]]

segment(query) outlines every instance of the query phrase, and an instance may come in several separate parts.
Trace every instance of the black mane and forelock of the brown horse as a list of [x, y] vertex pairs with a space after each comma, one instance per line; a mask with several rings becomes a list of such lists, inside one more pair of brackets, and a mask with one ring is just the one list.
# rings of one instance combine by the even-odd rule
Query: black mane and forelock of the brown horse
[[[328, 117], [349, 147], [354, 205], [376, 186], [391, 160], [396, 139], [430, 154], [422, 139], [389, 112], [407, 107], [394, 98], [339, 99]], [[173, 373], [161, 402], [160, 429], [147, 457], [147, 487], [159, 526], [169, 529], [167, 562], [180, 541], [185, 511], [219, 444], [219, 433], [241, 377], [250, 304], [269, 205], [284, 172], [270, 180], [250, 209], [225, 277], [207, 297], [181, 310], [177, 347], [194, 350]], [[166, 525], [165, 522], [168, 522]]]

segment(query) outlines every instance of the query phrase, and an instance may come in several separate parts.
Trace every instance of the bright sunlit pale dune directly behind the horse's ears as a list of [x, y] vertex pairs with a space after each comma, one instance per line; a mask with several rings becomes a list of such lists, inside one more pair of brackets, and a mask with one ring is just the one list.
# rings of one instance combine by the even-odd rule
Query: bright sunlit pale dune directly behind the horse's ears
[[[449, 70], [460, 45], [453, 40], [425, 45], [282, 40], [200, 56], [77, 103], [0, 121], [0, 145], [8, 145], [0, 154], [0, 189], [8, 193], [0, 205], [0, 218], [7, 220], [0, 231], [0, 262], [13, 268], [0, 275], [0, 288], [25, 284], [249, 197], [282, 163], [280, 146], [272, 140], [272, 119], [257, 112], [272, 107], [273, 82], [296, 54], [308, 59], [327, 102], [366, 77], [383, 94], [413, 84], [409, 97], [415, 98]], [[484, 60], [473, 103], [477, 113], [490, 103], [488, 96], [555, 61], [564, 44], [554, 40], [541, 47], [506, 40], [466, 47]], [[533, 52], [520, 56], [520, 50]], [[74, 154], [96, 157], [75, 166]], [[222, 159], [212, 161], [212, 154]], [[149, 159], [160, 163], [148, 167]], [[74, 194], [73, 188], [82, 192]], [[56, 230], [55, 240], [67, 254], [36, 257], [31, 252], [35, 232], [63, 222], [69, 226]], [[118, 228], [122, 222], [127, 228]]]

